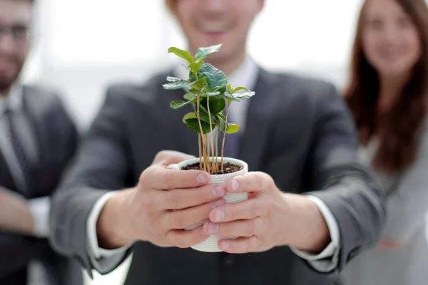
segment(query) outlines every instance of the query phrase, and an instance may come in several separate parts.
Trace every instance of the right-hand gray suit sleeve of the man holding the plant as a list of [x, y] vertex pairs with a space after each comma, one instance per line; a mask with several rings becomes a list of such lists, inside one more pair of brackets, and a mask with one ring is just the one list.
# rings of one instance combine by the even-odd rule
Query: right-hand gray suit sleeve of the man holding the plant
[[[384, 192], [359, 162], [350, 112], [331, 85], [317, 88], [315, 136], [310, 152], [312, 189], [334, 215], [340, 231], [341, 271], [363, 249], [379, 241], [385, 221]], [[323, 87], [323, 88], [322, 88]]]

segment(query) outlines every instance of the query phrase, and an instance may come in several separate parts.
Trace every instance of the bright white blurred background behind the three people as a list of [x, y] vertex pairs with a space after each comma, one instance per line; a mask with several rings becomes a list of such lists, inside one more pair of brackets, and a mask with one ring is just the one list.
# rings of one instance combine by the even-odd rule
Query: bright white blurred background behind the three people
[[[266, 0], [248, 43], [261, 66], [343, 86], [362, 0]], [[162, 0], [39, 1], [34, 52], [24, 81], [63, 92], [79, 127], [98, 111], [108, 83], [143, 81], [185, 48]], [[88, 284], [121, 284], [128, 264]]]

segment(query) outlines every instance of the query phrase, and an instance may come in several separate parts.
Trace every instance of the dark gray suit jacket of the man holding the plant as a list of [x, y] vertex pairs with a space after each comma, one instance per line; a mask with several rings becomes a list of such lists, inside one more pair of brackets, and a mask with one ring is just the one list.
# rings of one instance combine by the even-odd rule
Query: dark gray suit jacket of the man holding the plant
[[[90, 271], [86, 219], [107, 190], [132, 187], [160, 150], [197, 155], [197, 136], [182, 123], [190, 109], [172, 110], [183, 91], [163, 90], [166, 75], [144, 86], [108, 89], [71, 175], [54, 198], [52, 244]], [[340, 227], [339, 268], [373, 246], [384, 222], [382, 192], [357, 160], [350, 114], [335, 88], [322, 81], [260, 71], [250, 99], [239, 158], [267, 172], [286, 192], [322, 199]], [[189, 106], [189, 108], [191, 108]], [[114, 266], [113, 266], [114, 267]], [[112, 268], [101, 270], [106, 273]], [[337, 270], [337, 271], [338, 271]], [[133, 246], [126, 284], [332, 284], [289, 247], [258, 254], [204, 253]]]

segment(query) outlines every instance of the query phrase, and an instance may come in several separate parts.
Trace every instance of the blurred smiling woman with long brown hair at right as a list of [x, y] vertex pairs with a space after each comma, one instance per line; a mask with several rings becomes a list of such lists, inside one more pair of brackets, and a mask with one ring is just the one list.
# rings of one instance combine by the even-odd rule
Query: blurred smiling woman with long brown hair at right
[[428, 8], [424, 0], [367, 0], [345, 99], [362, 158], [387, 192], [376, 249], [342, 272], [345, 285], [428, 284]]

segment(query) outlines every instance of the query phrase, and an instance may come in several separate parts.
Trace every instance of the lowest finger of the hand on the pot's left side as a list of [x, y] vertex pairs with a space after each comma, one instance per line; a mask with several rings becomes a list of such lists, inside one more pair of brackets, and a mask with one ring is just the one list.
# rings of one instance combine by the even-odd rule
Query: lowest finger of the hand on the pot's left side
[[166, 239], [174, 247], [187, 248], [208, 239], [209, 235], [205, 234], [202, 226], [190, 231], [183, 229], [171, 229], [166, 234]]

